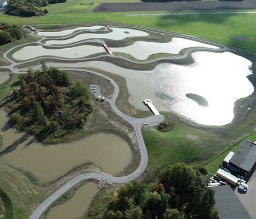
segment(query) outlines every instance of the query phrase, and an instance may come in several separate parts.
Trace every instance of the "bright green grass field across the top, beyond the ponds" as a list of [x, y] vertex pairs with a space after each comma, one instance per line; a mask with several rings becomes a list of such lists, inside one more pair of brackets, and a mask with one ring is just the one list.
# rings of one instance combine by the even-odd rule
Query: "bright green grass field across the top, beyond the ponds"
[[[94, 4], [84, 4], [93, 2]], [[202, 37], [212, 41], [224, 43], [241, 49], [256, 52], [256, 29], [254, 28], [256, 14], [216, 14], [216, 15], [156, 15], [156, 16], [124, 16], [125, 14], [155, 14], [179, 13], [186, 11], [150, 11], [150, 12], [117, 12], [93, 13], [93, 9], [100, 3], [106, 2], [140, 2], [139, 0], [98, 0], [76, 1], [67, 0], [66, 3], [52, 4], [45, 7], [49, 13], [46, 16], [20, 18], [0, 13], [2, 22], [15, 24], [77, 24], [88, 22], [116, 22], [142, 27], [151, 27], [170, 32], [184, 33]], [[241, 11], [241, 10], [240, 10]], [[248, 11], [248, 10], [245, 10]], [[252, 10], [249, 10], [252, 11]], [[187, 11], [200, 12], [200, 11]], [[202, 11], [207, 12], [207, 11]], [[232, 37], [246, 37], [248, 41], [237, 41]]]

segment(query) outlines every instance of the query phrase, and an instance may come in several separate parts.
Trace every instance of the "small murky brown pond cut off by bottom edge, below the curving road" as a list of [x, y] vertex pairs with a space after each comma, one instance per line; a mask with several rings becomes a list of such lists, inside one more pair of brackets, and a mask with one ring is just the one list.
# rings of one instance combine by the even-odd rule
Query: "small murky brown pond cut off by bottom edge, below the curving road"
[[89, 208], [90, 201], [99, 191], [97, 185], [93, 182], [87, 182], [84, 186], [76, 190], [73, 197], [61, 205], [50, 209], [46, 219], [72, 219], [81, 218]]

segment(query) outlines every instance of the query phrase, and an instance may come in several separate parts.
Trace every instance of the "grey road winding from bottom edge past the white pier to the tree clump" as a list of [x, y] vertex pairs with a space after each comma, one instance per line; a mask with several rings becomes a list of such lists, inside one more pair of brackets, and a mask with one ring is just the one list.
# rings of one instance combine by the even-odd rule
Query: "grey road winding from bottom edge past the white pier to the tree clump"
[[119, 93], [119, 87], [116, 84], [116, 82], [114, 82], [111, 78], [104, 76], [103, 74], [100, 74], [100, 73], [94, 72], [94, 71], [81, 70], [79, 68], [61, 68], [61, 70], [84, 71], [84, 72], [90, 72], [93, 74], [97, 74], [98, 76], [101, 76], [101, 77], [104, 77], [104, 78], [110, 80], [110, 82], [115, 86], [115, 91], [114, 91], [113, 97], [111, 99], [106, 98], [105, 101], [110, 103], [110, 106], [112, 107], [113, 111], [118, 116], [122, 117], [124, 120], [126, 120], [127, 122], [129, 122], [130, 124], [133, 125], [135, 134], [136, 134], [136, 138], [138, 141], [139, 149], [140, 149], [140, 157], [141, 157], [140, 165], [132, 174], [129, 174], [127, 176], [122, 176], [122, 177], [106, 176], [103, 174], [98, 174], [96, 172], [77, 176], [77, 177], [73, 178], [72, 180], [70, 180], [69, 182], [67, 182], [64, 186], [59, 188], [58, 191], [56, 191], [55, 193], [50, 195], [49, 198], [45, 199], [43, 201], [43, 203], [41, 203], [37, 207], [37, 209], [33, 212], [33, 214], [30, 216], [30, 219], [39, 218], [39, 216], [41, 216], [42, 213], [52, 203], [54, 203], [54, 201], [56, 199], [58, 199], [62, 194], [69, 191], [69, 189], [71, 189], [73, 186], [75, 186], [77, 183], [79, 183], [83, 180], [87, 180], [87, 179], [91, 179], [91, 178], [101, 178], [103, 180], [106, 180], [109, 183], [127, 183], [127, 182], [134, 180], [136, 177], [140, 176], [144, 172], [144, 170], [146, 169], [146, 166], [147, 166], [147, 151], [146, 151], [146, 146], [145, 146], [145, 143], [143, 140], [143, 136], [141, 134], [141, 127], [143, 126], [144, 122], [147, 122], [152, 126], [154, 124], [159, 124], [160, 122], [162, 122], [164, 120], [164, 117], [162, 115], [138, 119], [138, 118], [128, 117], [125, 114], [123, 114], [122, 112], [120, 112], [115, 105], [115, 101], [116, 101], [118, 93]]

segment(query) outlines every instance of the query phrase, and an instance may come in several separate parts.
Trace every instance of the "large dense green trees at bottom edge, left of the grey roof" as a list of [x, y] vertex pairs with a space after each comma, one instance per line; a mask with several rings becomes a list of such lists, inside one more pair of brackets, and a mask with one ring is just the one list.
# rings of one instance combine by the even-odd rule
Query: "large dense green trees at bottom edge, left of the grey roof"
[[116, 191], [105, 219], [217, 219], [214, 191], [205, 169], [184, 163], [168, 166], [151, 185], [133, 181]]

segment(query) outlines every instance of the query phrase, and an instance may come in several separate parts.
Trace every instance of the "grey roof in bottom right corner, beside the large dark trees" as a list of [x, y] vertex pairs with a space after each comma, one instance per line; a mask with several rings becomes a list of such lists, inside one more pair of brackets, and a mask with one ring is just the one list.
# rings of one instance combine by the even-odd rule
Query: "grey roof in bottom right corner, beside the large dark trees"
[[219, 219], [252, 219], [229, 185], [212, 187]]

